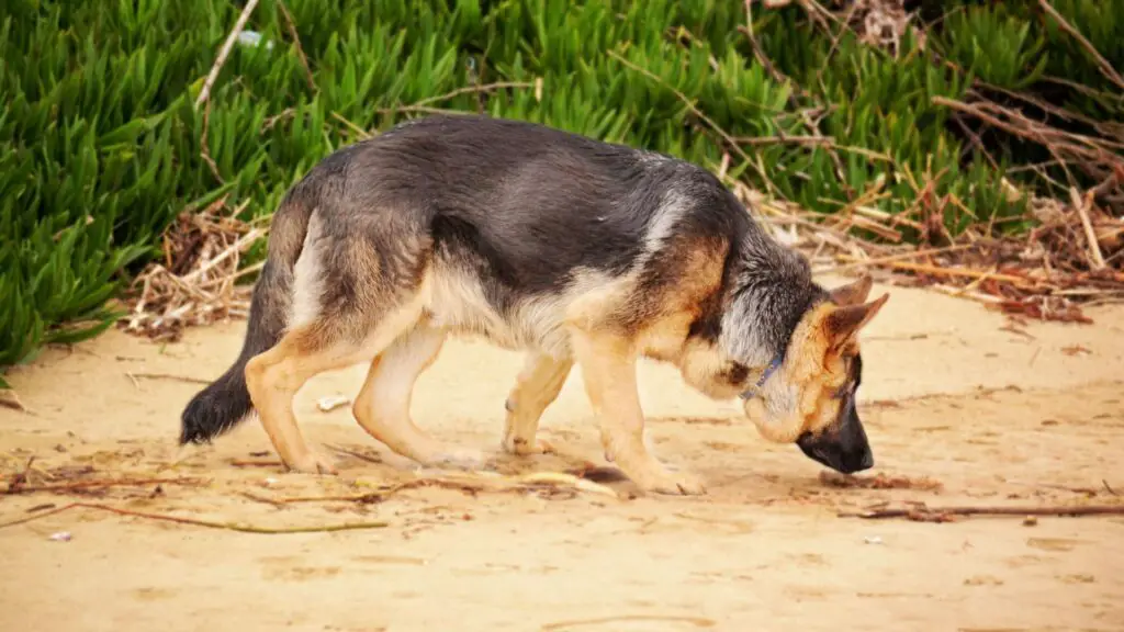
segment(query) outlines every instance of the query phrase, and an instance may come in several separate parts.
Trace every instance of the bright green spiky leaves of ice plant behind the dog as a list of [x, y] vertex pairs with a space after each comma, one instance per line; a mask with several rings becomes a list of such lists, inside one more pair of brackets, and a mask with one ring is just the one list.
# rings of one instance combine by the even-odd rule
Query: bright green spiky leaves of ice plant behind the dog
[[[1122, 2], [1052, 3], [1120, 67]], [[798, 3], [758, 9], [767, 70], [738, 28], [742, 2], [287, 0], [298, 48], [277, 0], [261, 0], [254, 37], [197, 108], [238, 0], [8, 0], [0, 370], [111, 326], [112, 299], [180, 213], [226, 197], [268, 216], [332, 151], [429, 111], [532, 120], [708, 169], [725, 156], [729, 178], [823, 214], [877, 182], [889, 195], [871, 206], [917, 214], [915, 184], [932, 178], [961, 202], [943, 209], [953, 234], [1021, 217], [999, 187], [1019, 151], [997, 147], [996, 170], [934, 98], [964, 99], [977, 78], [1039, 90], [1072, 66], [1095, 91], [1064, 105], [1111, 120], [1118, 91], [1034, 0], [948, 4], [934, 51], [907, 40], [897, 57], [825, 31]], [[814, 132], [831, 143], [787, 141]]]

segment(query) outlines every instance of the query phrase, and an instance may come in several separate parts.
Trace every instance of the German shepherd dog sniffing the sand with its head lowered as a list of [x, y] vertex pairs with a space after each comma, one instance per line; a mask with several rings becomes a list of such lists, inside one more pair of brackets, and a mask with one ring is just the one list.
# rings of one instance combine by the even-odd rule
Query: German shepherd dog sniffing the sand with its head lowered
[[291, 470], [335, 473], [292, 399], [312, 376], [370, 363], [355, 419], [424, 464], [482, 452], [414, 424], [418, 376], [451, 334], [526, 351], [502, 448], [540, 452], [543, 410], [581, 368], [606, 459], [640, 489], [704, 494], [644, 441], [636, 361], [744, 399], [769, 441], [842, 472], [873, 464], [855, 410], [858, 333], [889, 298], [869, 277], [834, 290], [708, 171], [550, 127], [433, 116], [341, 148], [285, 195], [242, 352], [187, 405], [180, 443], [255, 409]]

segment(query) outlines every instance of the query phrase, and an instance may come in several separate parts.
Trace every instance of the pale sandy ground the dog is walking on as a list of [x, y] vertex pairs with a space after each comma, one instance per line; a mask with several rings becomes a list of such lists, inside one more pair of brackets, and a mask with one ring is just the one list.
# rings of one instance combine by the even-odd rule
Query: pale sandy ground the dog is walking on
[[[348, 407], [317, 409], [320, 397], [354, 395], [356, 370], [323, 376], [298, 398], [310, 441], [366, 457], [339, 454], [338, 478], [236, 464], [274, 459], [256, 421], [178, 453], [179, 414], [199, 386], [153, 374], [218, 376], [243, 323], [166, 346], [110, 332], [51, 350], [10, 376], [31, 413], [0, 409], [8, 478], [34, 455], [29, 484], [83, 467], [88, 478], [209, 482], [0, 496], [0, 522], [76, 499], [272, 527], [389, 524], [260, 534], [89, 508], [45, 515], [0, 530], [0, 630], [1124, 630], [1122, 517], [836, 515], [908, 500], [1124, 504], [1114, 491], [1124, 494], [1124, 309], [1019, 333], [972, 303], [890, 291], [864, 336], [861, 413], [877, 460], [865, 473], [928, 477], [943, 490], [828, 487], [796, 448], [761, 440], [735, 403], [708, 401], [646, 363], [641, 395], [658, 453], [700, 473], [705, 497], [635, 497], [616, 481], [619, 499], [426, 487], [381, 503], [277, 504], [445, 475], [389, 454]], [[447, 345], [418, 385], [418, 424], [498, 453], [519, 362], [483, 343]], [[498, 457], [497, 468], [605, 464], [579, 373], [542, 436], [562, 454]], [[60, 532], [71, 539], [51, 538]]]

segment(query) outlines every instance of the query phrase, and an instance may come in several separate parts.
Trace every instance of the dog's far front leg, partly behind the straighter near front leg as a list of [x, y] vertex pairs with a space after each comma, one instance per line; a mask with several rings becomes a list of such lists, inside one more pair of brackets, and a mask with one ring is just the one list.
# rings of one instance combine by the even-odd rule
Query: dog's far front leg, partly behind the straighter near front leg
[[541, 351], [532, 351], [507, 396], [504, 421], [504, 450], [511, 454], [537, 454], [547, 446], [535, 440], [538, 419], [562, 391], [573, 360], [559, 360]]

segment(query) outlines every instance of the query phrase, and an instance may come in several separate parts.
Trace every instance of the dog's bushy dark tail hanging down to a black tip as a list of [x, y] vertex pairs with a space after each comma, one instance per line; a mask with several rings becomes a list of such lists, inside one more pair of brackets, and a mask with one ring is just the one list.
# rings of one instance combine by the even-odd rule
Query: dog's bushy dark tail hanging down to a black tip
[[234, 364], [188, 403], [180, 419], [180, 445], [209, 443], [250, 414], [246, 363], [281, 340], [292, 305], [293, 267], [308, 232], [312, 204], [308, 180], [298, 183], [273, 214], [269, 254], [250, 303], [250, 324]]

